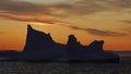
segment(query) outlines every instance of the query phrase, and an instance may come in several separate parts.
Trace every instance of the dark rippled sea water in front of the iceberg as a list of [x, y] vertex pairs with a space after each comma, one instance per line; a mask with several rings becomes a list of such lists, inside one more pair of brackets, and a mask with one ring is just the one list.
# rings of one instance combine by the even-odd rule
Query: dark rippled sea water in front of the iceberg
[[1, 61], [0, 74], [131, 74], [131, 57], [120, 63]]

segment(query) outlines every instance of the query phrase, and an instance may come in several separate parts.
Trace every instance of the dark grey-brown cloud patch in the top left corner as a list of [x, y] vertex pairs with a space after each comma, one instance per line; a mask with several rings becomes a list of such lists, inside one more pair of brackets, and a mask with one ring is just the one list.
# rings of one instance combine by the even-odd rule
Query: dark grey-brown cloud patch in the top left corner
[[15, 1], [15, 0], [1, 0], [0, 11], [12, 14], [36, 14], [46, 13], [46, 9], [43, 9], [39, 4], [34, 4], [29, 2]]

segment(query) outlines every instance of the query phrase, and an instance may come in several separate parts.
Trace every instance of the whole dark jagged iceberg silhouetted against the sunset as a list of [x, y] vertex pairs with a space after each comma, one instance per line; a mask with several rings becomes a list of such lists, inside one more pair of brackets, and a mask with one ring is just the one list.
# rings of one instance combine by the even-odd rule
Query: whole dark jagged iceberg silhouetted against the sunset
[[69, 35], [67, 45], [52, 40], [50, 34], [34, 29], [27, 25], [26, 44], [23, 52], [13, 54], [14, 61], [86, 61], [119, 62], [118, 54], [103, 50], [104, 40], [95, 40], [82, 46], [74, 35]]

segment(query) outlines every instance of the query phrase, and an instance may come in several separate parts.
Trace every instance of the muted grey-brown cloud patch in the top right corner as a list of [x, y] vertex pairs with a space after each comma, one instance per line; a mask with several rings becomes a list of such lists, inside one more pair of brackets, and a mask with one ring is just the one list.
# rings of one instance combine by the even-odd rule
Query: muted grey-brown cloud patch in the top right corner
[[131, 9], [131, 0], [79, 0], [70, 9], [63, 8], [72, 14], [92, 14], [103, 11], [122, 11]]

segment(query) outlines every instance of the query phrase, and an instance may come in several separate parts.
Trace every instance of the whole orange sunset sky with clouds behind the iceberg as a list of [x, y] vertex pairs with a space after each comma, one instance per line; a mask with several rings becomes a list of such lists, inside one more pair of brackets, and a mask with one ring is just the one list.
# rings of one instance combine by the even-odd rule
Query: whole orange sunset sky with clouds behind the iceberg
[[67, 44], [105, 40], [105, 50], [131, 50], [131, 0], [0, 0], [0, 50], [23, 50], [26, 26]]

